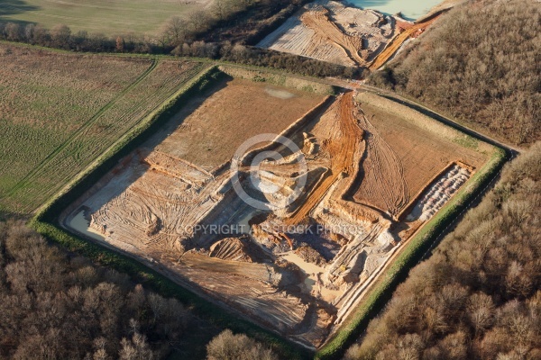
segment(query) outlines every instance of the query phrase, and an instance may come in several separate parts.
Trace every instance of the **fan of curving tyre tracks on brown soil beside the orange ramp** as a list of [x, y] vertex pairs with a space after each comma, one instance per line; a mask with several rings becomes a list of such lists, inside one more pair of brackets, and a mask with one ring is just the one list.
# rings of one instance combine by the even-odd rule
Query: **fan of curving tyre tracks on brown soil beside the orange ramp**
[[364, 114], [360, 116], [359, 124], [366, 133], [366, 150], [362, 161], [362, 182], [353, 199], [369, 202], [377, 208], [384, 207], [382, 211], [395, 217], [409, 202], [404, 166], [398, 154]]

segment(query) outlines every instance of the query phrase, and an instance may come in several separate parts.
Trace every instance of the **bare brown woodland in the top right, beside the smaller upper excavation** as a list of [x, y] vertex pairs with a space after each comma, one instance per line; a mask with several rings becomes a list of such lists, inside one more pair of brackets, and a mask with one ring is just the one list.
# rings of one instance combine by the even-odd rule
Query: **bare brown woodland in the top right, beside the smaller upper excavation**
[[483, 0], [445, 14], [371, 84], [520, 144], [540, 139], [541, 6]]

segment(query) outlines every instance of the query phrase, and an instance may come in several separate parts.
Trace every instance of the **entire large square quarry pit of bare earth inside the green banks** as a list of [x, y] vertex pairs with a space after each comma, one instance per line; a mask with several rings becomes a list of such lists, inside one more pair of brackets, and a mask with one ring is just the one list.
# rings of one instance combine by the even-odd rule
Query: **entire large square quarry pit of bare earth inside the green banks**
[[494, 148], [377, 95], [243, 77], [193, 98], [62, 225], [320, 347]]

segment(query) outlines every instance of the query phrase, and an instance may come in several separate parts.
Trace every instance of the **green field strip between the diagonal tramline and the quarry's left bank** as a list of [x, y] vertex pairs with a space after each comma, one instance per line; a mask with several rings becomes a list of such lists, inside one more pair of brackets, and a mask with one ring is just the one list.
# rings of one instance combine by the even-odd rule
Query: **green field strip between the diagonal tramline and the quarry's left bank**
[[[50, 196], [73, 180], [87, 166], [96, 161], [98, 157], [118, 143], [126, 134], [129, 134], [134, 127], [140, 126], [146, 121], [152, 112], [157, 112], [164, 103], [182, 91], [194, 77], [201, 76], [208, 71], [209, 66], [204, 63], [195, 63], [194, 66], [185, 72], [169, 75], [167, 70], [161, 69], [159, 77], [153, 79], [152, 84], [159, 84], [156, 91], [152, 91], [144, 98], [133, 105], [133, 99], [120, 100], [115, 107], [105, 112], [103, 117], [107, 120], [104, 129], [99, 128], [99, 120], [93, 126], [83, 130], [78, 139], [73, 139], [61, 152], [50, 159], [48, 166], [41, 167], [38, 172], [29, 179], [28, 183], [14, 194], [11, 200], [17, 211], [20, 213], [31, 213], [46, 202]], [[156, 72], [154, 72], [156, 75]], [[163, 78], [161, 78], [163, 77]], [[134, 92], [145, 92], [150, 78], [145, 80]], [[130, 95], [128, 95], [130, 96]], [[137, 99], [139, 96], [135, 96]], [[52, 169], [62, 169], [53, 172]], [[9, 200], [7, 198], [6, 200]], [[9, 208], [9, 205], [7, 206]]]

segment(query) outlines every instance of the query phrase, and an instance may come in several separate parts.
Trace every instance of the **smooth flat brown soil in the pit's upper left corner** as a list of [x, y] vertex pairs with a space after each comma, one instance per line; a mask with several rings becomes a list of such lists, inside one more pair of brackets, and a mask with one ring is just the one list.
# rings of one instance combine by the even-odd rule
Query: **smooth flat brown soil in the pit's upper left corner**
[[[323, 96], [233, 79], [183, 119], [156, 149], [207, 169], [224, 164], [245, 139], [280, 133]], [[219, 109], [219, 111], [216, 111]]]

